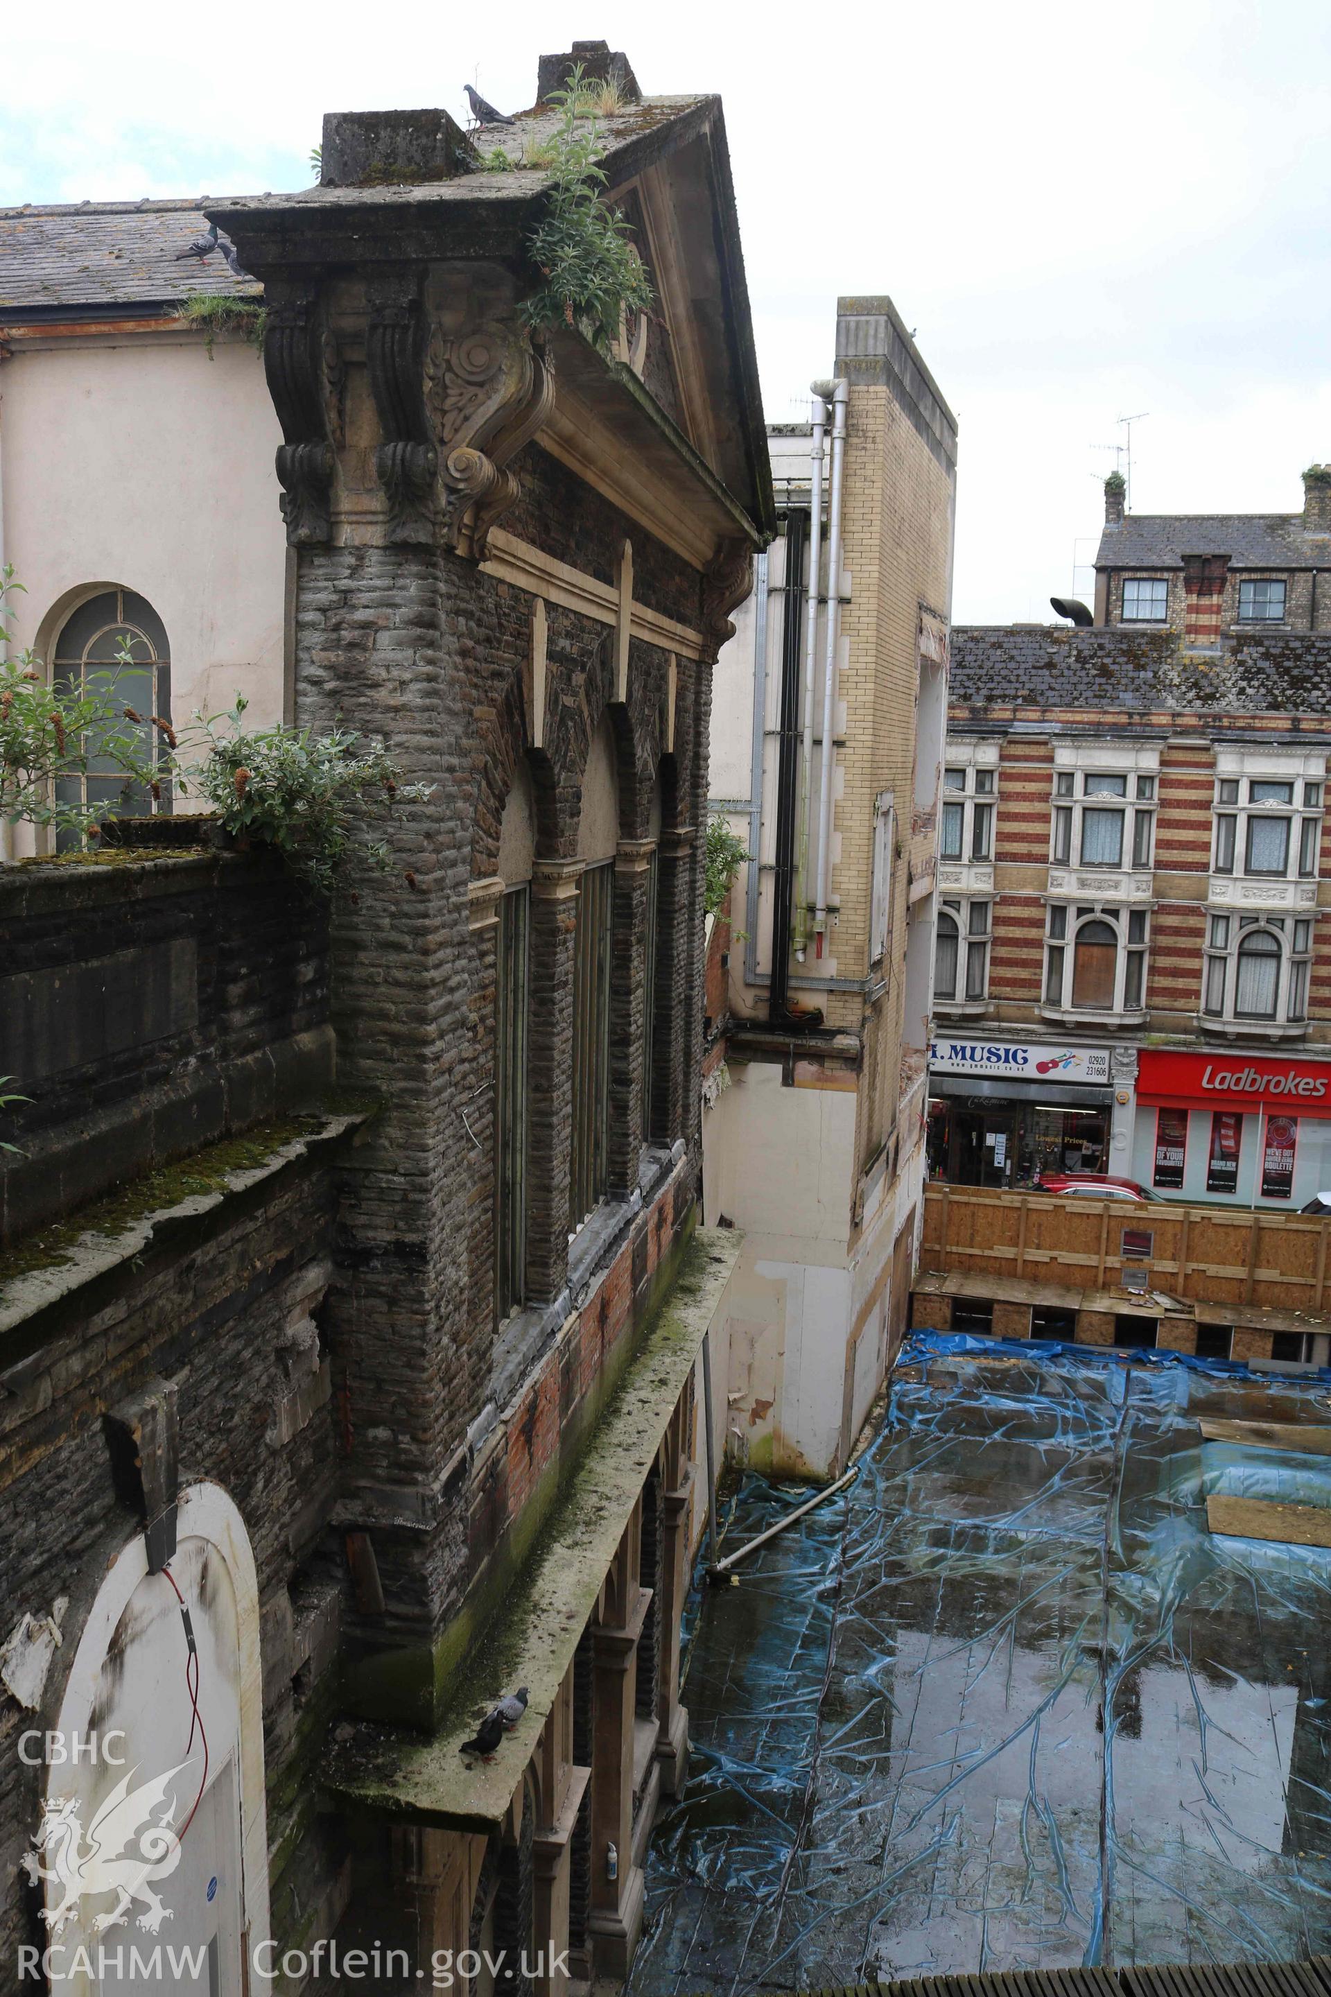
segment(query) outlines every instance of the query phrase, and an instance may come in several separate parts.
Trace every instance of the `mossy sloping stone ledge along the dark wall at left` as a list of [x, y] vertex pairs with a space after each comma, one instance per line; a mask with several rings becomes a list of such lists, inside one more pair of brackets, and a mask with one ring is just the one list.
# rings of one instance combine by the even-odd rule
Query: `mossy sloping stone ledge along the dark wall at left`
[[76, 1208], [64, 1220], [56, 1220], [36, 1234], [10, 1248], [0, 1250], [0, 1290], [20, 1276], [38, 1270], [60, 1268], [74, 1260], [74, 1250], [90, 1234], [114, 1240], [136, 1220], [160, 1214], [182, 1200], [196, 1200], [202, 1194], [225, 1192], [235, 1172], [255, 1172], [267, 1164], [285, 1144], [295, 1144], [303, 1136], [313, 1136], [329, 1116], [367, 1114], [373, 1104], [361, 1100], [321, 1100], [299, 1116], [277, 1116], [255, 1124], [243, 1136], [222, 1138], [206, 1144], [204, 1150], [190, 1152], [176, 1164], [158, 1166], [152, 1172], [132, 1178], [118, 1192], [102, 1200]]

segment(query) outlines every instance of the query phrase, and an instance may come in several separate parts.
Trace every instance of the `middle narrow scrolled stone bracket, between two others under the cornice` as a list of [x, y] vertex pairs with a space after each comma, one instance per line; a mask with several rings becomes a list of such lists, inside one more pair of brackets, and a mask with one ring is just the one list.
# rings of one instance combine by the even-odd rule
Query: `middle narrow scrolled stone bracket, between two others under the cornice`
[[425, 409], [423, 353], [419, 278], [381, 278], [369, 290], [365, 365], [379, 415], [375, 471], [389, 503], [389, 541], [435, 539], [439, 451]]

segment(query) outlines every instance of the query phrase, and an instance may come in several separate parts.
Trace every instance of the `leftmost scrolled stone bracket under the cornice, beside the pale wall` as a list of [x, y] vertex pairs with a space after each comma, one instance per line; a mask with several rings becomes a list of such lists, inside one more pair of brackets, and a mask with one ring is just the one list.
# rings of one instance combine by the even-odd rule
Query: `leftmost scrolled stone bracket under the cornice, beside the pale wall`
[[283, 435], [277, 481], [287, 541], [291, 547], [327, 541], [333, 487], [329, 403], [333, 421], [339, 421], [341, 363], [313, 296], [269, 302], [263, 371]]

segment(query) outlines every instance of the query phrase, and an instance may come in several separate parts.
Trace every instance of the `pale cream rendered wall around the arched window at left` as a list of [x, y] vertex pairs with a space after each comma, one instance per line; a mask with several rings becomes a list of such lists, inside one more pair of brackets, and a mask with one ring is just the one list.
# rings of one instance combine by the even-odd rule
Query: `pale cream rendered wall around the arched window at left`
[[46, 651], [80, 597], [120, 583], [166, 625], [178, 727], [237, 691], [249, 721], [281, 721], [279, 443], [247, 339], [218, 337], [212, 361], [198, 333], [20, 347], [0, 365], [12, 645]]

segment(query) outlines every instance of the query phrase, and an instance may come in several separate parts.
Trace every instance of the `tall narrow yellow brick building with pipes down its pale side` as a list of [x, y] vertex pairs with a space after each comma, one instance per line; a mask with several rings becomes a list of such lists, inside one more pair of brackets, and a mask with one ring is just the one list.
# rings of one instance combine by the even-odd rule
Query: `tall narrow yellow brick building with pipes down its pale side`
[[712, 695], [750, 859], [712, 937], [704, 1184], [744, 1228], [726, 1450], [828, 1476], [900, 1342], [924, 1176], [956, 419], [892, 300], [838, 302], [834, 379], [768, 447], [782, 531]]

